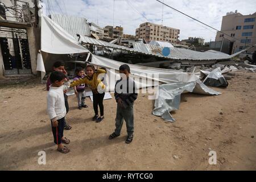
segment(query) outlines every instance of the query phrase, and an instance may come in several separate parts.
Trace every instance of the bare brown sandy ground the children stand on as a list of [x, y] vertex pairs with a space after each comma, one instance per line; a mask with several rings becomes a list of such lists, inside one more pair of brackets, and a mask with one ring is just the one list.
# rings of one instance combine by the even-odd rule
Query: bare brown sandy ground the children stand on
[[[0, 169], [7, 170], [255, 170], [256, 74], [239, 72], [221, 96], [184, 94], [176, 122], [151, 114], [154, 102], [140, 94], [135, 102], [135, 137], [125, 144], [126, 126], [119, 138], [114, 130], [116, 104], [104, 101], [105, 120], [91, 121], [89, 108], [78, 110], [69, 97], [67, 120], [72, 130], [69, 154], [60, 154], [52, 141], [46, 113], [45, 85], [39, 80], [0, 87]], [[220, 114], [220, 112], [222, 114]], [[46, 151], [46, 165], [38, 152]], [[217, 153], [209, 165], [208, 153]]]

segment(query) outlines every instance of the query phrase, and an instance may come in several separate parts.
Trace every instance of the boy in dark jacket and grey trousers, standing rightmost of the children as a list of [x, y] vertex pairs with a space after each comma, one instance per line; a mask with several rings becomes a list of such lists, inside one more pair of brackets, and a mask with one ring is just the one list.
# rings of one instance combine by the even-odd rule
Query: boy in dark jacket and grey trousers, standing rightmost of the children
[[123, 119], [126, 122], [128, 137], [126, 143], [133, 141], [134, 132], [134, 115], [133, 104], [138, 97], [135, 82], [129, 77], [130, 67], [127, 64], [119, 67], [121, 79], [115, 83], [115, 100], [117, 101], [117, 115], [115, 117], [115, 131], [109, 136], [109, 139], [116, 138], [120, 135]]

